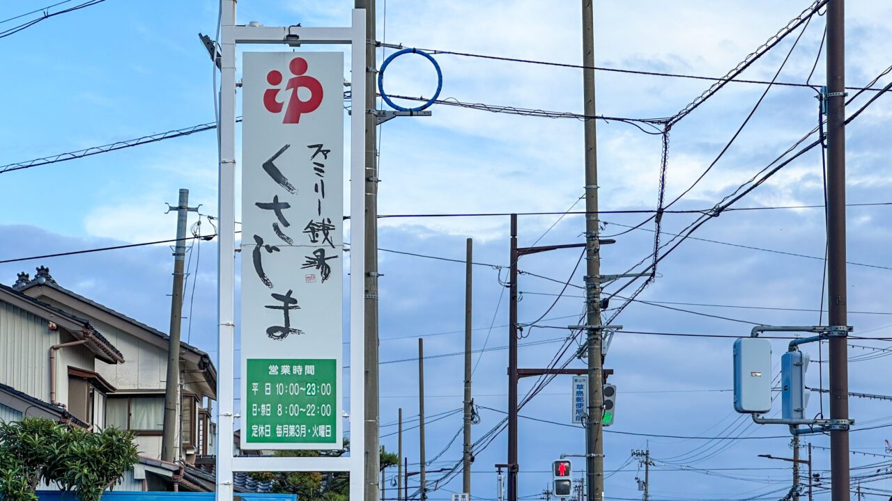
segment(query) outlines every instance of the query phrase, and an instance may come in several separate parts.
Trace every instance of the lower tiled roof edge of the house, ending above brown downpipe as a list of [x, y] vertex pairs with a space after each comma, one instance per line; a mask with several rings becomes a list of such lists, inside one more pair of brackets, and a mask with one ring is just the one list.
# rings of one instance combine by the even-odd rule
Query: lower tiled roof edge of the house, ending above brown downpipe
[[102, 333], [97, 331], [84, 318], [71, 315], [62, 309], [54, 308], [3, 283], [0, 283], [0, 299], [6, 300], [18, 308], [25, 309], [47, 322], [61, 326], [78, 340], [87, 340], [87, 348], [103, 361], [109, 364], [120, 364], [124, 361], [124, 356], [111, 344], [111, 341], [106, 339]]

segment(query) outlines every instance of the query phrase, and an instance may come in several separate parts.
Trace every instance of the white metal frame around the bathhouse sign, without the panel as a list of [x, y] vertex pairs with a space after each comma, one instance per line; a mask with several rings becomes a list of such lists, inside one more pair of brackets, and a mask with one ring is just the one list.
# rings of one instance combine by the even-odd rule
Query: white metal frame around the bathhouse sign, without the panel
[[[365, 391], [365, 234], [364, 218], [351, 218], [350, 280], [350, 432], [348, 457], [235, 457], [235, 47], [237, 44], [351, 45], [351, 93], [366, 94], [365, 9], [353, 9], [351, 27], [303, 28], [235, 25], [236, 0], [220, 0], [221, 53], [219, 95], [219, 264], [217, 382], [217, 501], [234, 497], [233, 472], [350, 472], [350, 499], [362, 501], [364, 485], [363, 409]], [[361, 101], [361, 99], [360, 99]], [[354, 102], [355, 103], [355, 102]], [[365, 106], [351, 113], [350, 212], [365, 208]], [[357, 112], [359, 110], [359, 112]], [[232, 259], [228, 259], [228, 258]]]

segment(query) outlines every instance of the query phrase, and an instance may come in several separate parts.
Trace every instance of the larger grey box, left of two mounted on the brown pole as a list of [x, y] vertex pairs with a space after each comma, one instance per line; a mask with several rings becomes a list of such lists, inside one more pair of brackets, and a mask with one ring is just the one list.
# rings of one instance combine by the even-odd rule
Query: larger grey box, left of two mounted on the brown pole
[[734, 341], [734, 410], [764, 414], [772, 410], [772, 343], [760, 338]]

